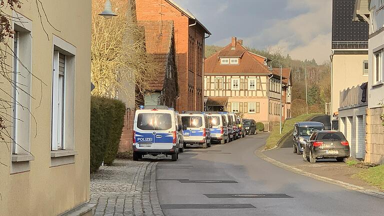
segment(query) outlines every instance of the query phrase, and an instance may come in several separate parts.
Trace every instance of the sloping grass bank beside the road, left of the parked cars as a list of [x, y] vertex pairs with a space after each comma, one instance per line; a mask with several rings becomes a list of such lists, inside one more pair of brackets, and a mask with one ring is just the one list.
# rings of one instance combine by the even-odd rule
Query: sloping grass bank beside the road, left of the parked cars
[[293, 129], [294, 123], [298, 121], [307, 121], [312, 119], [313, 117], [317, 116], [319, 114], [317, 113], [310, 113], [310, 114], [302, 114], [300, 116], [297, 116], [295, 118], [288, 119], [284, 122], [282, 125], [282, 132], [280, 134], [280, 127], [274, 126], [272, 131], [270, 131], [270, 135], [268, 139], [266, 140], [265, 149], [271, 149], [274, 146], [277, 145], [278, 140], [280, 140], [284, 135], [287, 135], [291, 132]]

